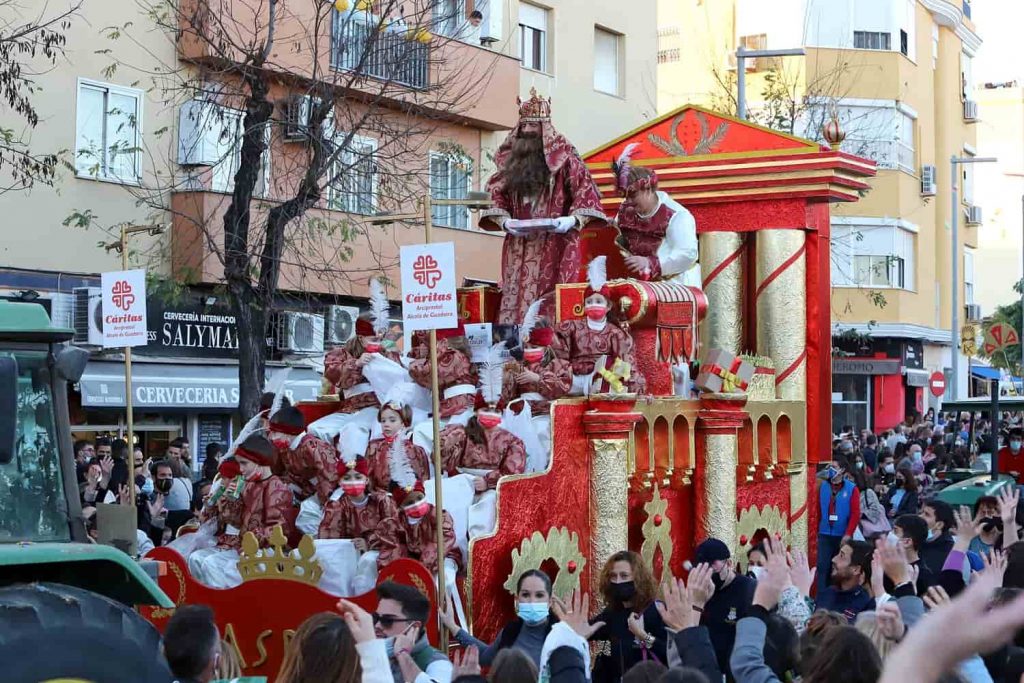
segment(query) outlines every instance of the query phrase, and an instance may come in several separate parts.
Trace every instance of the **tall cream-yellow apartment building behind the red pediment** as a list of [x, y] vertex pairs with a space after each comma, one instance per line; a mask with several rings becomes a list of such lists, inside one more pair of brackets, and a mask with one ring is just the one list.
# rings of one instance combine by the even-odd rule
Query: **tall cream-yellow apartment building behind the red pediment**
[[[682, 23], [712, 34], [692, 54], [676, 39], [688, 35]], [[950, 329], [952, 270], [955, 259], [959, 328], [981, 316], [974, 263], [982, 211], [977, 169], [951, 170], [949, 160], [984, 152], [976, 128], [985, 112], [972, 75], [981, 40], [970, 2], [660, 0], [658, 32], [662, 112], [701, 90], [698, 102], [728, 108], [738, 45], [803, 47], [804, 56], [749, 60], [750, 116], [820, 140], [835, 114], [846, 133], [842, 148], [879, 165], [864, 199], [833, 210], [836, 429], [884, 429], [937, 405], [929, 382], [936, 372], [945, 376], [946, 397], [953, 384], [966, 396], [968, 358], [954, 364], [959, 334]]]

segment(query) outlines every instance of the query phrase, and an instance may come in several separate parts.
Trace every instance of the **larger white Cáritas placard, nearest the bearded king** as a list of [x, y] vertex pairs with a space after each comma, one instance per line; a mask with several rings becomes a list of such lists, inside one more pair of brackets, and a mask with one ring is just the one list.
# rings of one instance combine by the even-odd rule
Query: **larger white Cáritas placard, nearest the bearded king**
[[406, 331], [446, 330], [459, 325], [455, 244], [401, 248], [401, 313]]

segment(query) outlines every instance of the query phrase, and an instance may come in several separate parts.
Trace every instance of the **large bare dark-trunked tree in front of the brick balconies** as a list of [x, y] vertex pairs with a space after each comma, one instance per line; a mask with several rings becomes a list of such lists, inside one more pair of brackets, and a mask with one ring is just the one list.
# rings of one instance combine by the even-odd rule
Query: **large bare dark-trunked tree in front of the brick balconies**
[[[200, 241], [222, 269], [238, 315], [239, 408], [252, 415], [279, 295], [345, 291], [394, 265], [382, 248], [393, 233], [368, 215], [429, 191], [427, 150], [472, 168], [438, 130], [476, 103], [498, 57], [454, 49], [467, 28], [450, 0], [137, 2], [177, 46], [178, 63], [150, 74], [152, 91], [186, 108], [179, 128], [195, 135], [130, 191], [155, 220], [172, 215], [175, 250]], [[216, 159], [189, 159], [207, 148]], [[220, 206], [189, 210], [193, 190], [208, 201], [211, 188], [225, 193]], [[71, 222], [95, 221], [77, 212]]]

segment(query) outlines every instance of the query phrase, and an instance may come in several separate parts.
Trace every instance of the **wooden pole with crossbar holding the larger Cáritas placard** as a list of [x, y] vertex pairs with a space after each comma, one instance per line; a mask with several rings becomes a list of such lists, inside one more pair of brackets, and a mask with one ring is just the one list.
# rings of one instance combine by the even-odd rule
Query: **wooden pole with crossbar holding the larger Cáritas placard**
[[[456, 200], [437, 200], [427, 193], [419, 199], [417, 202], [420, 205], [420, 211], [414, 213], [382, 213], [377, 214], [370, 219], [371, 225], [390, 225], [392, 223], [422, 220], [423, 221], [423, 237], [427, 244], [430, 244], [431, 232], [433, 230], [433, 208], [435, 206], [464, 206], [467, 209], [473, 211], [477, 209], [485, 209], [494, 204], [490, 201], [490, 196], [487, 193], [477, 193], [470, 191], [466, 194], [464, 199]], [[430, 399], [431, 409], [433, 415], [431, 419], [433, 421], [434, 427], [434, 449], [433, 449], [433, 462], [434, 462], [434, 514], [437, 515], [437, 548], [440, 553], [440, 549], [444, 548], [444, 524], [443, 515], [444, 508], [441, 504], [441, 436], [440, 436], [440, 393], [437, 389], [437, 330], [433, 328], [430, 329]], [[437, 615], [440, 618], [441, 613], [444, 611], [444, 604], [447, 600], [447, 595], [445, 594], [445, 589], [447, 588], [444, 581], [444, 558], [442, 555], [437, 556]], [[439, 625], [438, 633], [440, 634], [440, 645], [442, 651], [447, 651], [447, 631], [444, 629], [443, 625]]]

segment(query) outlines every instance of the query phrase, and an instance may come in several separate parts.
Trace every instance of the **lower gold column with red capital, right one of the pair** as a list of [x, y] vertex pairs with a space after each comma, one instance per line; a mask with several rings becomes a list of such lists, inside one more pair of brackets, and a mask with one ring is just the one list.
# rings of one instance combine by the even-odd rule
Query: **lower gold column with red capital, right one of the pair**
[[701, 394], [697, 431], [703, 439], [705, 457], [697, 469], [697, 541], [719, 539], [733, 555], [736, 538], [736, 465], [739, 429], [746, 413], [746, 394]]

